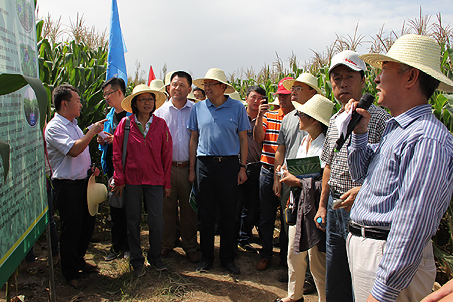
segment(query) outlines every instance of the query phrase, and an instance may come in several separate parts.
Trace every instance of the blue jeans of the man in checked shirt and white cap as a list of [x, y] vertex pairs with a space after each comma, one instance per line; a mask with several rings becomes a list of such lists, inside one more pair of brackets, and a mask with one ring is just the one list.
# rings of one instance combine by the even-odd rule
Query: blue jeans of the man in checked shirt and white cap
[[326, 300], [353, 301], [352, 280], [346, 253], [349, 213], [332, 209], [329, 195], [326, 224]]

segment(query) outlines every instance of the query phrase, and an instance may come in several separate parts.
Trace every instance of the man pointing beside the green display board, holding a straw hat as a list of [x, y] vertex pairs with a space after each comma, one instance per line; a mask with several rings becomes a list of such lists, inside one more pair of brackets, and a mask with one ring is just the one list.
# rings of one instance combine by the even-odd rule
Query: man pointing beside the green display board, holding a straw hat
[[[57, 113], [46, 127], [45, 139], [50, 166], [54, 169], [54, 200], [61, 219], [61, 270], [69, 285], [82, 289], [87, 284], [79, 272], [89, 273], [97, 268], [84, 260], [95, 223], [87, 207], [88, 171], [91, 169], [88, 144], [104, 129], [106, 120], [94, 123], [84, 135], [75, 119], [80, 115], [82, 104], [77, 89], [71, 85], [55, 88], [53, 104]], [[98, 175], [99, 170], [96, 168], [94, 173]]]

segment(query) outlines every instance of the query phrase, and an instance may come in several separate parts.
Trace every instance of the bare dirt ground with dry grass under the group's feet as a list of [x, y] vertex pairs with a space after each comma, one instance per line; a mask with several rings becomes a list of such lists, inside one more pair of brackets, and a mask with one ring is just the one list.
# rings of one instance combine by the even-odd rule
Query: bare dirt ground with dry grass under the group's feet
[[[88, 288], [75, 290], [66, 284], [61, 274], [61, 267], [55, 269], [55, 288], [57, 301], [219, 301], [240, 302], [274, 301], [277, 297], [286, 296], [286, 283], [280, 283], [277, 277], [286, 272], [279, 264], [278, 255], [272, 259], [265, 271], [255, 269], [260, 260], [258, 254], [238, 252], [235, 263], [241, 270], [240, 275], [231, 275], [220, 266], [218, 260], [219, 236], [216, 236], [216, 260], [209, 273], [195, 272], [196, 264], [190, 263], [181, 247], [177, 247], [163, 260], [168, 266], [167, 272], [157, 272], [147, 266], [147, 273], [137, 279], [132, 275], [127, 260], [121, 258], [111, 262], [104, 261], [110, 248], [109, 230], [98, 228], [85, 256], [89, 263], [97, 264], [99, 273], [84, 276]], [[147, 230], [142, 231], [142, 246], [149, 247]], [[278, 234], [278, 233], [277, 233]], [[260, 247], [259, 238], [254, 229], [252, 245]], [[11, 297], [16, 301], [47, 301], [46, 287], [49, 284], [47, 247], [45, 236], [35, 244], [34, 251], [38, 257], [39, 273], [29, 275], [23, 262], [16, 277], [17, 286], [9, 286]], [[274, 252], [278, 252], [274, 248]], [[13, 278], [14, 279], [14, 278]], [[10, 283], [14, 283], [10, 281]], [[0, 301], [5, 301], [5, 286], [0, 291]], [[306, 302], [318, 301], [317, 294], [305, 296]]]

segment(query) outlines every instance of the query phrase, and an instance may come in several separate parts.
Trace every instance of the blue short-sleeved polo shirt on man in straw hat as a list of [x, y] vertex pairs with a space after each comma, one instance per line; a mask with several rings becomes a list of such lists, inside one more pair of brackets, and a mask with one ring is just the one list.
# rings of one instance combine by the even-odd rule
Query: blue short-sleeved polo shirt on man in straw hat
[[215, 107], [209, 99], [195, 103], [188, 129], [198, 131], [197, 156], [239, 154], [239, 132], [250, 129], [244, 105], [228, 97]]

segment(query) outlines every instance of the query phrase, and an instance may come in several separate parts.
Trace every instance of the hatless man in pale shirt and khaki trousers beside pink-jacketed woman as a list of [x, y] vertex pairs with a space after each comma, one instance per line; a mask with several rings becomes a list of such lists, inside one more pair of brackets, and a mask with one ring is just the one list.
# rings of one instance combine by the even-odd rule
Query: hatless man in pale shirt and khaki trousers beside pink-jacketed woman
[[173, 139], [173, 159], [170, 197], [164, 198], [164, 234], [162, 236], [162, 256], [167, 255], [175, 246], [176, 221], [181, 219], [181, 238], [186, 256], [192, 263], [200, 261], [197, 253], [197, 214], [189, 204], [192, 184], [189, 176], [189, 140], [187, 129], [190, 112], [194, 102], [187, 99], [191, 91], [192, 77], [185, 71], [171, 75], [168, 91], [170, 100], [154, 113], [167, 123]]

